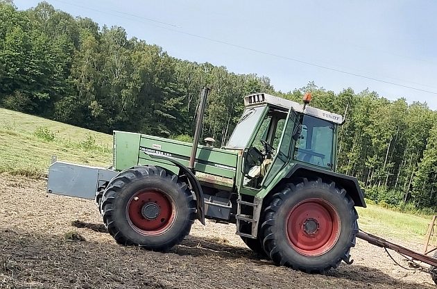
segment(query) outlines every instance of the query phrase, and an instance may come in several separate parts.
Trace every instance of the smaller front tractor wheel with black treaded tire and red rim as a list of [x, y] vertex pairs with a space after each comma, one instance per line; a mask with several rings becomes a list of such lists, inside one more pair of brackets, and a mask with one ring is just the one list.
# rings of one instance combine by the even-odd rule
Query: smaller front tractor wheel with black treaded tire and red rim
[[189, 234], [196, 201], [186, 183], [161, 167], [133, 167], [103, 193], [103, 222], [121, 245], [167, 251]]

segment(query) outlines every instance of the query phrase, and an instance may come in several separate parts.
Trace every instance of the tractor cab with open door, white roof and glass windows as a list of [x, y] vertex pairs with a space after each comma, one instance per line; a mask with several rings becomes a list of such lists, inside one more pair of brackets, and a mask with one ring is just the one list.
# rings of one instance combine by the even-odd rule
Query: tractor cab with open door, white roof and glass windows
[[341, 115], [269, 94], [245, 97], [246, 109], [226, 149], [243, 150], [243, 186], [268, 185], [290, 163], [335, 170]]

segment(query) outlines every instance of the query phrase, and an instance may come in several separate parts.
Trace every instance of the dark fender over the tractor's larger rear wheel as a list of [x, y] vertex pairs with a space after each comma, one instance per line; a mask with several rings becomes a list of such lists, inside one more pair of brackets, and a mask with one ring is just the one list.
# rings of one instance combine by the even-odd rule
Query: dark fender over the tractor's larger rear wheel
[[316, 174], [318, 176], [326, 176], [332, 179], [337, 184], [343, 187], [347, 194], [354, 201], [355, 206], [366, 208], [366, 201], [364, 201], [363, 190], [359, 187], [357, 178], [353, 176], [346, 176], [345, 174], [339, 174], [337, 172], [331, 172], [327, 170], [318, 169], [316, 167], [310, 167], [309, 165], [302, 165], [300, 163], [293, 166], [288, 174], [287, 178], [291, 176], [308, 176], [310, 174]]

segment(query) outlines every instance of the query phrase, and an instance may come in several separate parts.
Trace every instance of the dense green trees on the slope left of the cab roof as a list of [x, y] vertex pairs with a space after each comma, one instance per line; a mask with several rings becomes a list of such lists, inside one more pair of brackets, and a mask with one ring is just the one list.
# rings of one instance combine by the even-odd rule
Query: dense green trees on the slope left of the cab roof
[[106, 133], [191, 135], [200, 88], [208, 85], [205, 130], [224, 140], [243, 108], [241, 95], [273, 91], [267, 78], [173, 58], [128, 39], [121, 27], [99, 28], [46, 2], [26, 11], [0, 5], [0, 103], [6, 108]]

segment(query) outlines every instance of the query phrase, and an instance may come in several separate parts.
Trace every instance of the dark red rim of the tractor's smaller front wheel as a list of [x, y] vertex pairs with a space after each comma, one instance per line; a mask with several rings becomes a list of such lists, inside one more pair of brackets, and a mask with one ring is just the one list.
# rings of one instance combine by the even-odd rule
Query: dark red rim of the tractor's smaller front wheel
[[128, 202], [128, 221], [135, 231], [156, 236], [171, 227], [175, 220], [175, 206], [164, 192], [142, 190]]

